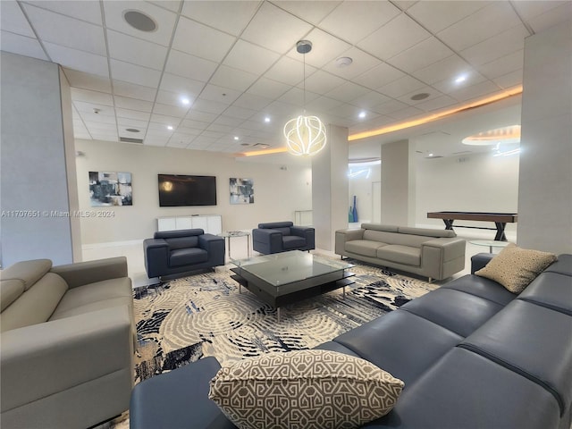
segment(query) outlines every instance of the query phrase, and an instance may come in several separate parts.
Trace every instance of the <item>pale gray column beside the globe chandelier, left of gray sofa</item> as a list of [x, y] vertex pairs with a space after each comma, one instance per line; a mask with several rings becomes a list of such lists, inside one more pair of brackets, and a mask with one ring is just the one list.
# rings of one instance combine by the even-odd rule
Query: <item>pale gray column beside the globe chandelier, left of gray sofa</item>
[[348, 129], [328, 125], [328, 143], [312, 158], [315, 247], [333, 250], [336, 230], [348, 228]]

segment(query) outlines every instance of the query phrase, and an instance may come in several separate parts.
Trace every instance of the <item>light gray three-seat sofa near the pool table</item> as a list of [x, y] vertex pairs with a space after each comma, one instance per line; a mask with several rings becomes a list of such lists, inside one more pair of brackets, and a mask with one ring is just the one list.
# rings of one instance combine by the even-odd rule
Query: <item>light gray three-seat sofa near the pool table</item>
[[338, 230], [335, 253], [374, 265], [443, 280], [465, 268], [466, 241], [454, 231], [362, 223]]

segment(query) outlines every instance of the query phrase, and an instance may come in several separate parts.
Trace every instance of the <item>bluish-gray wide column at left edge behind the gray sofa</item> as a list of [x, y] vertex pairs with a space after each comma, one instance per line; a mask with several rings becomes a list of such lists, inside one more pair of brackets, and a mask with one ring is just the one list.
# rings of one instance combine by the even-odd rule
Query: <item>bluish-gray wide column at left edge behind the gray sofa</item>
[[2, 53], [2, 266], [80, 259], [71, 93], [58, 64]]

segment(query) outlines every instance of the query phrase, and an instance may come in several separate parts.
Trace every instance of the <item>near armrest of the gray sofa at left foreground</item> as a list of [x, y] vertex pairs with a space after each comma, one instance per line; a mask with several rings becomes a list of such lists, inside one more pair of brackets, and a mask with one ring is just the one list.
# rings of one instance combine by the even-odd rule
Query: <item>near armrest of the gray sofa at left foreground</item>
[[118, 371], [127, 371], [132, 387], [133, 336], [127, 306], [2, 332], [1, 341], [3, 413]]

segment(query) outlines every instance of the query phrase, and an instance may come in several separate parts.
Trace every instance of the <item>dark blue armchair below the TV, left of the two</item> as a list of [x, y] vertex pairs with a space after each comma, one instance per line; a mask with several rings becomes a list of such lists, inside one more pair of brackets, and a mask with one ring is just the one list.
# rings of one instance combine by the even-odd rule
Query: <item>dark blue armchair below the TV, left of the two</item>
[[204, 230], [158, 231], [143, 240], [147, 276], [174, 278], [224, 265], [224, 239]]

